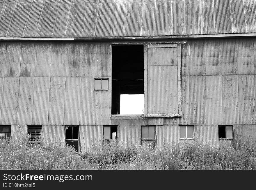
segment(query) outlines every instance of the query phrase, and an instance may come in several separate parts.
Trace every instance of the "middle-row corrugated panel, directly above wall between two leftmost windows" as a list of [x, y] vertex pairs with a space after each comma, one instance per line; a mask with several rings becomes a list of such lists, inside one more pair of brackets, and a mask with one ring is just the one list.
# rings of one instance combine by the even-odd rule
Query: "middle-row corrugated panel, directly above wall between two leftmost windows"
[[17, 124], [31, 125], [34, 104], [34, 77], [20, 77]]

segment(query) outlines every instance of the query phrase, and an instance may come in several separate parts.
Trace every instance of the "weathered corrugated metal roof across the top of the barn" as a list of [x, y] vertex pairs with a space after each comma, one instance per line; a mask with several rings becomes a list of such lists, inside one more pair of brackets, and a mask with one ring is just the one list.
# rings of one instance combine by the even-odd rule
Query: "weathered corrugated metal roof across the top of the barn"
[[256, 32], [256, 0], [0, 0], [0, 37]]

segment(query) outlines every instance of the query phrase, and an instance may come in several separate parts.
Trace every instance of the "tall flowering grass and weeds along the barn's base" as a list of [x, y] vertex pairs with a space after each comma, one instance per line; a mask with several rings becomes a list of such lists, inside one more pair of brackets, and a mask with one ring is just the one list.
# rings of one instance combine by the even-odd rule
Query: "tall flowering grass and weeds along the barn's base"
[[0, 169], [256, 169], [256, 153], [255, 146], [241, 141], [221, 148], [196, 141], [162, 150], [95, 142], [77, 154], [58, 141], [31, 145], [25, 136], [0, 140]]

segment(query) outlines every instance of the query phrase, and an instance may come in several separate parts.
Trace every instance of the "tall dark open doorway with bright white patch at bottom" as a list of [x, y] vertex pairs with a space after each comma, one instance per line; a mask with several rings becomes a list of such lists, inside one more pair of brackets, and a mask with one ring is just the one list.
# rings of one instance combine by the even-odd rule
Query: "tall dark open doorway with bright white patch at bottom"
[[143, 114], [143, 45], [112, 46], [112, 115]]

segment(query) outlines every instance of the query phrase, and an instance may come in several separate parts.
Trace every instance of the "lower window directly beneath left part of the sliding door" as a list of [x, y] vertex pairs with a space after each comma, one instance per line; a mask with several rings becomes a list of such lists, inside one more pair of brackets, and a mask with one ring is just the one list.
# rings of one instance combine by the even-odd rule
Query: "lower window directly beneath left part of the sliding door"
[[156, 146], [155, 126], [141, 126], [141, 145]]

